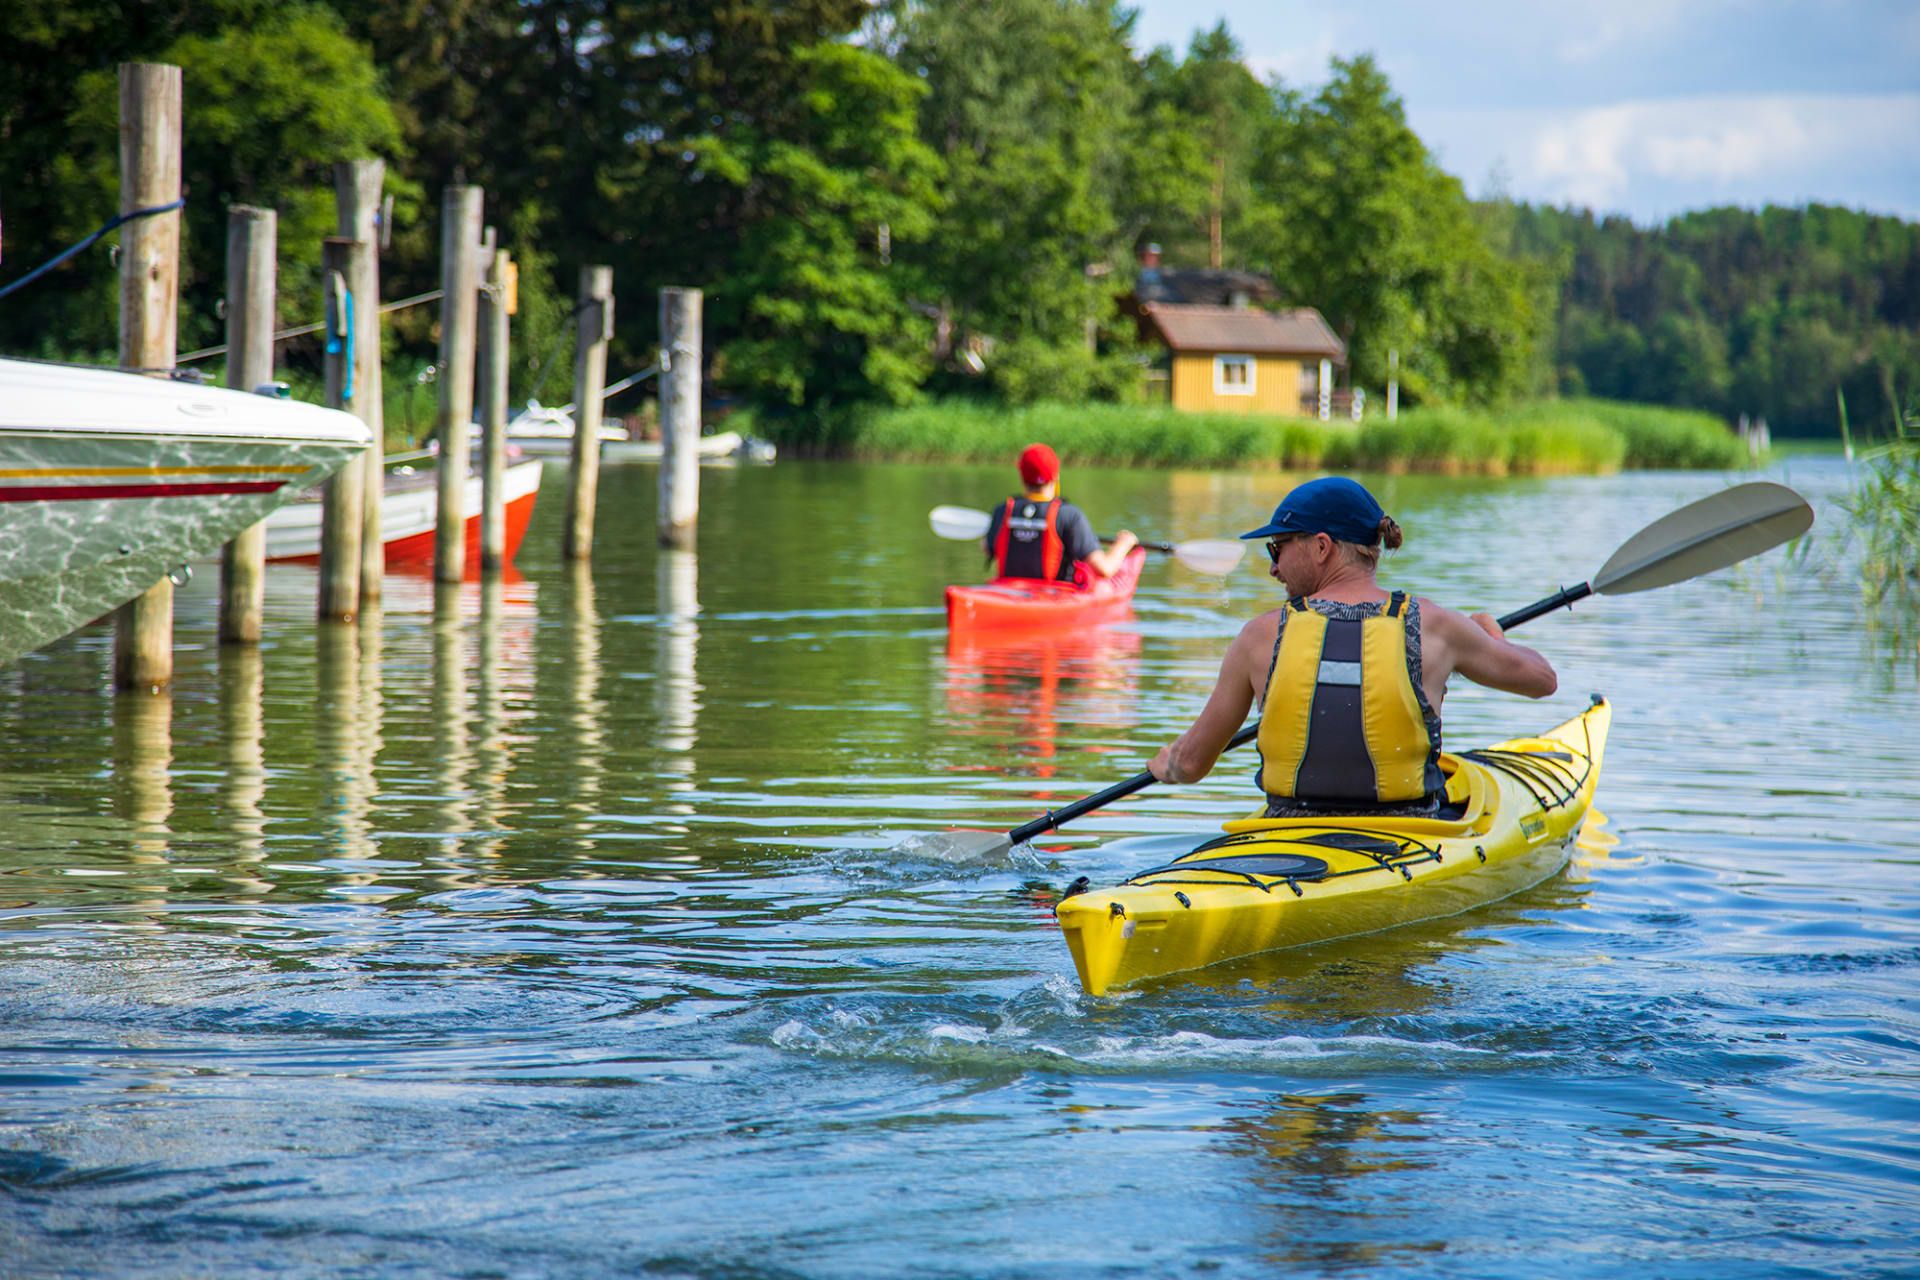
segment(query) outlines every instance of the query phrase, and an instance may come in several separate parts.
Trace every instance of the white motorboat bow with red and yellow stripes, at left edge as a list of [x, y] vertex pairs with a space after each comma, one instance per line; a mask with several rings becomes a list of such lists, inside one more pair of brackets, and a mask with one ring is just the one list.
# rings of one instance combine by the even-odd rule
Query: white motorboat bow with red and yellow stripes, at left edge
[[336, 409], [0, 359], [0, 662], [215, 551], [367, 443]]

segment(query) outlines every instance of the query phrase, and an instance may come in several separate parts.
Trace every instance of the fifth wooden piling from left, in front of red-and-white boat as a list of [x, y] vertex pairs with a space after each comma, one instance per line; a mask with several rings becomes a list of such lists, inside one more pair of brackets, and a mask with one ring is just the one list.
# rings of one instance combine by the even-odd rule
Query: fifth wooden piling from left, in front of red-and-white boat
[[434, 580], [467, 576], [467, 432], [474, 416], [474, 324], [480, 301], [478, 186], [449, 186], [440, 201], [440, 439]]

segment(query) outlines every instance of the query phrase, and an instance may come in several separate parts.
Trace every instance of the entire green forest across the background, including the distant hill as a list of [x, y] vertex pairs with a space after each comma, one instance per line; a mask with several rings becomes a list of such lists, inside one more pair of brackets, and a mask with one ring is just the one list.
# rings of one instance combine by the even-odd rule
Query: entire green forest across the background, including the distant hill
[[[522, 273], [516, 395], [564, 399], [568, 296], [609, 263], [620, 363], [651, 361], [655, 290], [701, 286], [714, 386], [770, 411], [1125, 399], [1116, 301], [1148, 242], [1321, 309], [1356, 386], [1398, 353], [1409, 403], [1830, 434], [1837, 388], [1885, 420], [1920, 386], [1914, 225], [1476, 203], [1369, 58], [1261, 83], [1225, 27], [1135, 52], [1114, 0], [13, 0], [0, 59], [0, 284], [113, 213], [115, 65], [184, 67], [182, 349], [221, 340], [228, 205], [280, 211], [280, 319], [307, 320], [330, 165], [382, 155], [388, 297], [438, 284], [440, 190], [486, 188]], [[65, 263], [0, 301], [0, 349], [111, 353], [113, 288], [108, 253]], [[430, 309], [390, 334], [432, 359]]]

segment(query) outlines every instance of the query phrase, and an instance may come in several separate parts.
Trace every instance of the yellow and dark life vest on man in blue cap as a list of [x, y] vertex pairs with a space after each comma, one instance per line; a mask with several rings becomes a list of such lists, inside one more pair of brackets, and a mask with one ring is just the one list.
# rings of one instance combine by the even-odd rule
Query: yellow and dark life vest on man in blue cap
[[1396, 804], [1446, 789], [1440, 722], [1415, 685], [1407, 593], [1329, 618], [1286, 601], [1260, 700], [1260, 787], [1308, 804]]

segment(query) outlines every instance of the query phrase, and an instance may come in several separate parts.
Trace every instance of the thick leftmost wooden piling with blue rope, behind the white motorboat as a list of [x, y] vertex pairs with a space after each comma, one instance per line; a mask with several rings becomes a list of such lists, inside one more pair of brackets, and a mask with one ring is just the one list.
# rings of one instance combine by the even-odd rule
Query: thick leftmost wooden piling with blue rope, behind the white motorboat
[[[119, 211], [180, 198], [180, 69], [127, 61], [119, 67]], [[173, 368], [179, 324], [180, 211], [121, 226], [119, 361]], [[161, 578], [113, 616], [113, 683], [163, 689], [173, 681], [173, 581]]]

